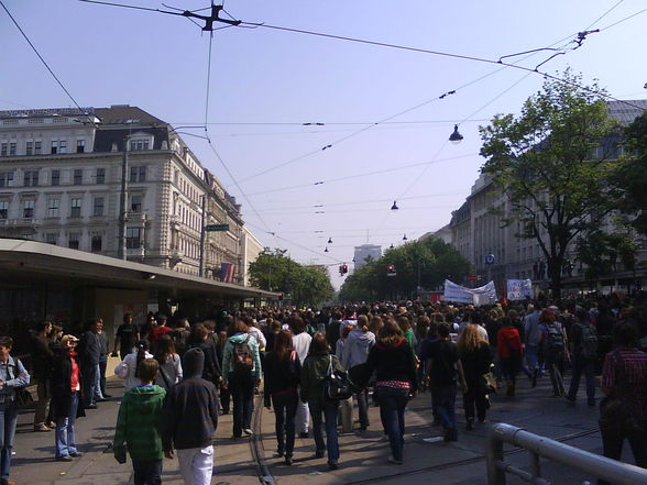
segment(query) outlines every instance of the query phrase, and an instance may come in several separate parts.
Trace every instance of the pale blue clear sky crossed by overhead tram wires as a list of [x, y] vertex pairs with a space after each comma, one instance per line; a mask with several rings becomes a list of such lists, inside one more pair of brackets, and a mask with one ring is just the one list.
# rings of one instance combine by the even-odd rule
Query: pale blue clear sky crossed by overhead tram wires
[[[210, 7], [168, 1], [116, 0], [167, 11]], [[226, 0], [231, 16], [223, 18], [262, 25], [217, 24], [224, 29], [212, 38], [160, 12], [1, 2], [81, 107], [128, 103], [174, 126], [198, 126], [182, 129], [183, 140], [242, 203], [248, 228], [300, 263], [330, 265], [336, 287], [343, 282], [337, 266], [352, 271], [355, 245], [397, 246], [449, 222], [484, 162], [479, 125], [518, 114], [544, 78], [275, 27], [494, 62], [563, 47], [504, 60], [534, 69], [559, 54], [538, 70], [561, 76], [570, 67], [616, 99], [647, 98], [641, 0]], [[578, 32], [595, 29], [572, 49]], [[1, 5], [0, 66], [0, 110], [75, 106]], [[456, 145], [448, 142], [454, 124], [464, 136]], [[206, 134], [215, 151], [199, 137]]]

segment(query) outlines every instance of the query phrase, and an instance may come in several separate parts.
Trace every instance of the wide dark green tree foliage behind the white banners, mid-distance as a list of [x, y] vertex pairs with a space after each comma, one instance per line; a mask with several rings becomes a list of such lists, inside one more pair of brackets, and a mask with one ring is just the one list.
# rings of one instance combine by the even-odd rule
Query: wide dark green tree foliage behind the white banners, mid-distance
[[[396, 276], [387, 276], [393, 265]], [[339, 291], [342, 301], [377, 301], [409, 298], [417, 290], [418, 274], [423, 288], [436, 288], [445, 278], [460, 278], [470, 272], [470, 263], [442, 240], [430, 238], [387, 250], [379, 260], [347, 276]]]

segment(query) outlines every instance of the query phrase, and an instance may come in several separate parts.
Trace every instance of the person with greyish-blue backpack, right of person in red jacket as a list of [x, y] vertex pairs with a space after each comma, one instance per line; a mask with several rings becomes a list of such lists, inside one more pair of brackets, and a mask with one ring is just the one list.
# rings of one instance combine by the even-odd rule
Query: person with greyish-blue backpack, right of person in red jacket
[[552, 396], [562, 397], [563, 367], [568, 359], [567, 337], [563, 327], [556, 320], [551, 310], [544, 310], [539, 317], [539, 346], [544, 354], [544, 362], [550, 374], [552, 384]]

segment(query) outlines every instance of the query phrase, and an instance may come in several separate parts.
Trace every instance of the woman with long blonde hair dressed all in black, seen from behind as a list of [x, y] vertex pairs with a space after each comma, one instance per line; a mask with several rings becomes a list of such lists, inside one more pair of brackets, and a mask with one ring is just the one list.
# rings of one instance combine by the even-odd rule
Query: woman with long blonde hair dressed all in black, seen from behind
[[479, 422], [485, 422], [487, 412], [487, 396], [483, 374], [490, 372], [492, 354], [490, 344], [484, 340], [473, 323], [468, 323], [459, 335], [458, 351], [468, 385], [463, 393], [463, 407], [468, 420], [468, 430], [474, 429], [474, 405]]

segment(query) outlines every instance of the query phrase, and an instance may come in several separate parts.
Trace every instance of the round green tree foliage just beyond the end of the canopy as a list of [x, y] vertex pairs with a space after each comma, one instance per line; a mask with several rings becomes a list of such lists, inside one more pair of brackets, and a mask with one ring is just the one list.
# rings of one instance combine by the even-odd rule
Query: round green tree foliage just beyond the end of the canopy
[[304, 266], [281, 250], [263, 251], [250, 264], [249, 272], [253, 286], [281, 291], [297, 306], [317, 305], [335, 294], [325, 267]]

